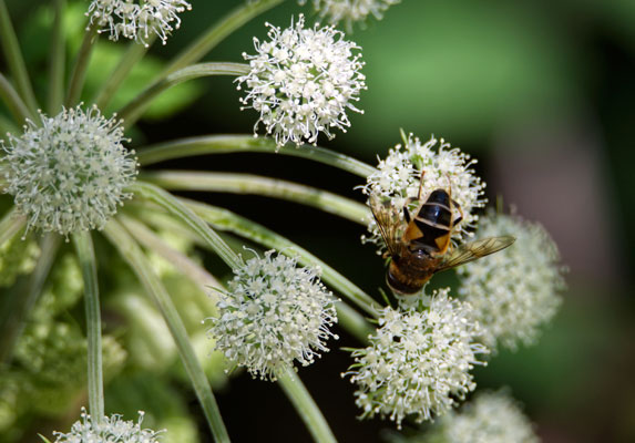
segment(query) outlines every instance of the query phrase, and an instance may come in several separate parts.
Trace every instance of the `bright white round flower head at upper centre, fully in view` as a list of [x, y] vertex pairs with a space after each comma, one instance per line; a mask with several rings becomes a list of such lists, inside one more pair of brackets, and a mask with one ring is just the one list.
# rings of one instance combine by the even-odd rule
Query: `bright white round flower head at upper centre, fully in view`
[[360, 48], [332, 27], [304, 24], [301, 14], [285, 30], [267, 23], [269, 41], [254, 39], [257, 53], [243, 54], [250, 72], [236, 80], [246, 85], [244, 109], [260, 114], [254, 133], [263, 123], [278, 146], [315, 144], [320, 132], [332, 138], [332, 128], [350, 126], [347, 110], [362, 112], [352, 104], [366, 89]]

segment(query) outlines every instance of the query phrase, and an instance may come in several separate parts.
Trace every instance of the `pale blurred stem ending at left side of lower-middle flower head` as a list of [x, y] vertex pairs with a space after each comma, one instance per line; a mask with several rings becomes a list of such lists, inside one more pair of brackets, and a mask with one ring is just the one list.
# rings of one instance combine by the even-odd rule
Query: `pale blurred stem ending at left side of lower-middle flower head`
[[172, 266], [196, 284], [203, 292], [209, 292], [209, 288], [222, 287], [221, 282], [207, 272], [205, 268], [193, 261], [185, 254], [167, 245], [144, 224], [124, 215], [120, 215], [119, 220], [141, 245], [170, 261]]

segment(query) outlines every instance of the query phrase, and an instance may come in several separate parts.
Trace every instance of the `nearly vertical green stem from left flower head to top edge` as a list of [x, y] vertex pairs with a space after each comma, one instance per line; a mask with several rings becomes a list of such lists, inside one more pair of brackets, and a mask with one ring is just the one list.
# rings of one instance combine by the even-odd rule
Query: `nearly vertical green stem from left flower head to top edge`
[[48, 109], [51, 115], [60, 112], [64, 100], [64, 10], [65, 0], [54, 0], [55, 19], [53, 22], [53, 34], [51, 35], [51, 58], [49, 59], [49, 97]]

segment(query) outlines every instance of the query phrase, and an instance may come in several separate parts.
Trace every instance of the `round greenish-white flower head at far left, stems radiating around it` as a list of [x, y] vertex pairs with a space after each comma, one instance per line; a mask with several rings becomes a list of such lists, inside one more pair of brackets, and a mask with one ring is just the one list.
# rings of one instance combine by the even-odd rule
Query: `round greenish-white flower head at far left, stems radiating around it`
[[101, 229], [136, 176], [133, 151], [123, 145], [123, 128], [93, 106], [63, 110], [54, 117], [27, 121], [20, 137], [9, 135], [6, 192], [14, 196], [28, 228], [68, 236]]

